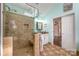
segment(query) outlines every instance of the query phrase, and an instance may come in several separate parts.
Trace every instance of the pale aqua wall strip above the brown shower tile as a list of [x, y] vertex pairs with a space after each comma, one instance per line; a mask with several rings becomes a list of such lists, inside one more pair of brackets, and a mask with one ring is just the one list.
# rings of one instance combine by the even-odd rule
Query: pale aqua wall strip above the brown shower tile
[[26, 5], [26, 8], [13, 3], [5, 3], [4, 5], [6, 11], [15, 12], [17, 14], [27, 15], [31, 17], [34, 16], [34, 11], [36, 11], [36, 9], [28, 7], [28, 5]]

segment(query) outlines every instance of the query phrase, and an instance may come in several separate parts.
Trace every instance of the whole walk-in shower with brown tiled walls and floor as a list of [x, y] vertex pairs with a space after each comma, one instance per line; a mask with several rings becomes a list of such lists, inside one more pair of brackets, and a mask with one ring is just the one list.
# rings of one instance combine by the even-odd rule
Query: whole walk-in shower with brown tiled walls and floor
[[[10, 43], [9, 45], [12, 49], [11, 55], [14, 56], [34, 55], [33, 44], [31, 41], [33, 41], [34, 39], [33, 31], [34, 31], [35, 14], [32, 14], [31, 16], [28, 16], [25, 13], [20, 14], [18, 13], [18, 10], [16, 8], [11, 9], [12, 6], [15, 7], [15, 5], [4, 4], [3, 36], [5, 39], [3, 41], [5, 43], [3, 44], [4, 45], [6, 44], [6, 37], [11, 37], [11, 40], [9, 40]], [[5, 47], [4, 50], [6, 50]]]

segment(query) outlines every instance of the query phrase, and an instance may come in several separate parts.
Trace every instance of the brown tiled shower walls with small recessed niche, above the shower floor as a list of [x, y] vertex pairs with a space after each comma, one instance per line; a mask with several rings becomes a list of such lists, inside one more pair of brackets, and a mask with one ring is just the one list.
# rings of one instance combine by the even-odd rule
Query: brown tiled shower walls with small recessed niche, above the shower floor
[[[33, 39], [33, 18], [10, 12], [4, 12], [4, 15], [4, 36], [14, 37], [13, 49], [27, 47], [29, 40]], [[14, 30], [9, 24], [11, 20], [15, 21], [16, 29]]]

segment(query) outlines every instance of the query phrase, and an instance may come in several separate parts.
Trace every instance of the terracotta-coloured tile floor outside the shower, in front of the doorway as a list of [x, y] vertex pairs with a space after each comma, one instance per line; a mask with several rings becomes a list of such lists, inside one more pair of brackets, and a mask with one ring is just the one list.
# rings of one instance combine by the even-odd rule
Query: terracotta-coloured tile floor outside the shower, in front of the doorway
[[56, 45], [46, 44], [44, 51], [41, 53], [42, 56], [75, 56], [76, 53], [73, 51], [67, 51]]

